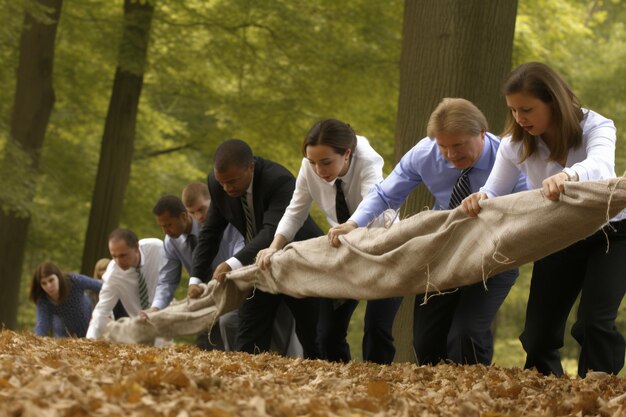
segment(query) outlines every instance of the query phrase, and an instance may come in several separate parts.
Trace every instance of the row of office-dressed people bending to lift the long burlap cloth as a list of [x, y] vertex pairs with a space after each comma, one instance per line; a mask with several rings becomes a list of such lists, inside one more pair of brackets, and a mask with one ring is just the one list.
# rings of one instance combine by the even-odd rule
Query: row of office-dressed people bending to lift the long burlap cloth
[[[434, 195], [435, 210], [459, 207], [468, 216], [480, 216], [480, 201], [487, 198], [540, 188], [558, 204], [567, 181], [615, 177], [613, 122], [583, 108], [553, 69], [538, 62], [522, 64], [509, 74], [502, 93], [510, 111], [502, 139], [489, 132], [474, 104], [445, 98], [430, 116], [427, 137], [384, 179], [383, 158], [365, 137], [336, 119], [321, 120], [309, 130], [296, 178], [282, 165], [255, 156], [244, 141], [223, 142], [215, 151], [207, 184], [190, 184], [182, 200], [165, 196], [155, 205], [164, 241], [138, 240], [127, 229], [113, 231], [113, 260], [103, 282], [64, 275], [51, 263], [37, 268], [31, 289], [37, 303], [36, 333], [101, 337], [118, 300], [131, 317], [149, 320], [151, 312], [172, 301], [182, 268], [190, 276], [190, 298], [202, 294], [202, 283], [222, 282], [226, 273], [242, 266], [269, 268], [272, 255], [288, 243], [324, 235], [309, 216], [313, 202], [331, 226], [329, 245], [337, 247], [342, 234], [397, 221], [389, 211], [395, 214], [420, 183]], [[589, 370], [617, 374], [622, 369], [626, 343], [615, 321], [626, 291], [621, 277], [625, 217], [620, 213], [596, 234], [534, 263], [520, 336], [526, 368], [563, 375], [559, 349], [567, 317], [580, 295], [572, 328], [581, 345], [579, 375]], [[417, 295], [413, 346], [418, 363], [489, 365], [491, 325], [517, 276], [518, 270], [512, 269], [486, 283], [428, 298]], [[85, 289], [99, 291], [88, 326], [82, 319], [90, 313], [81, 295]], [[392, 324], [400, 301], [367, 302], [364, 360], [392, 362]], [[238, 311], [220, 318], [219, 332], [199, 335], [198, 344], [210, 341], [249, 353], [273, 349], [349, 361], [346, 336], [358, 302], [296, 299], [257, 288]]]

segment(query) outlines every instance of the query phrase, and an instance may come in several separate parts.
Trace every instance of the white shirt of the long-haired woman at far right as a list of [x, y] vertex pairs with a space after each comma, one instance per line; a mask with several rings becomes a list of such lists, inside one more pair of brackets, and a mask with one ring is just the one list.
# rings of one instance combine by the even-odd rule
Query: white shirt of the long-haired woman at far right
[[[579, 181], [615, 178], [615, 125], [592, 110], [583, 109], [583, 114], [582, 144], [569, 150], [565, 167], [576, 171]], [[503, 138], [493, 170], [480, 191], [489, 197], [509, 194], [520, 172], [526, 174], [530, 189], [541, 188], [544, 179], [561, 172], [564, 167], [550, 160], [550, 149], [543, 139], [538, 136], [536, 141], [535, 153], [520, 163], [523, 142], [512, 142], [510, 136]], [[612, 220], [625, 217], [622, 212]]]

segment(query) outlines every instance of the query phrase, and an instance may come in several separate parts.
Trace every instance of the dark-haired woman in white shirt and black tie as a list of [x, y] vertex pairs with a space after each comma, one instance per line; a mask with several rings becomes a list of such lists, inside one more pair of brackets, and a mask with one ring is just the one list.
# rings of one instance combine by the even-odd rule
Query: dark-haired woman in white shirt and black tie
[[[263, 269], [269, 267], [274, 252], [293, 240], [314, 201], [326, 214], [331, 227], [337, 226], [350, 217], [370, 188], [383, 179], [383, 158], [366, 138], [356, 136], [350, 125], [340, 120], [316, 123], [304, 139], [302, 153], [304, 158], [289, 207], [272, 244], [257, 256], [257, 265]], [[401, 298], [368, 301], [362, 346], [364, 360], [392, 362], [395, 355], [392, 326], [400, 301]], [[358, 300], [322, 300], [318, 345], [323, 358], [343, 362], [351, 359], [346, 335], [357, 304]]]

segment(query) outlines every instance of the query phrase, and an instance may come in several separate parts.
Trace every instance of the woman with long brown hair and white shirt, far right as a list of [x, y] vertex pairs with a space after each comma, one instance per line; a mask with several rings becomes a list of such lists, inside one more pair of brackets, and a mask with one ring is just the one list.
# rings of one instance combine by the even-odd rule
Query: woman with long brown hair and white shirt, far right
[[[505, 194], [521, 171], [529, 188], [558, 201], [566, 181], [614, 178], [615, 126], [581, 107], [567, 83], [539, 62], [520, 65], [503, 93], [511, 112], [496, 162], [481, 191], [463, 201], [475, 216], [478, 202]], [[510, 189], [510, 188], [509, 188]], [[526, 368], [563, 375], [559, 349], [578, 295], [572, 336], [581, 346], [578, 374], [617, 374], [626, 343], [615, 326], [626, 292], [626, 222], [623, 213], [594, 235], [534, 263], [526, 323], [520, 336]], [[538, 236], [540, 238], [540, 236]]]

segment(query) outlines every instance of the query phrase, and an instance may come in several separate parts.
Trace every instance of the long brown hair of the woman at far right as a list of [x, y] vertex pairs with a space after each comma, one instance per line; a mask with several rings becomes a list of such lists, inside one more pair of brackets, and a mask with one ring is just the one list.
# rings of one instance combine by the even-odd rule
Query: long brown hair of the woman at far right
[[[515, 93], [527, 93], [552, 109], [552, 123], [558, 129], [550, 159], [560, 161], [567, 158], [571, 148], [582, 144], [580, 121], [583, 112], [580, 100], [556, 71], [541, 62], [521, 64], [509, 74], [502, 86], [502, 94], [505, 96]], [[535, 137], [518, 125], [510, 113], [502, 135], [511, 135], [513, 142], [523, 142], [524, 152], [520, 162], [537, 150]]]

